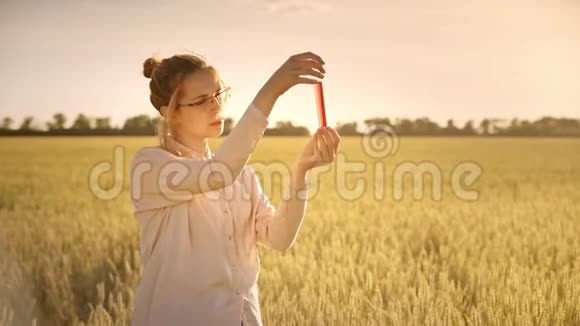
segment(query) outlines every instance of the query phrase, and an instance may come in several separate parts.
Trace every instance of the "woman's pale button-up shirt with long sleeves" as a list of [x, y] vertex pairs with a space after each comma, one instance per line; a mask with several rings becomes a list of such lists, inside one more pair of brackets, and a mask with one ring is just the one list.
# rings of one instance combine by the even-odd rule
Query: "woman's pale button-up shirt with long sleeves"
[[[168, 138], [171, 152], [143, 147], [133, 155], [131, 197], [143, 274], [132, 325], [262, 325], [257, 244], [290, 248], [307, 206], [306, 186], [301, 196], [285, 196], [274, 207], [246, 165], [267, 125], [251, 103], [215, 154]], [[168, 164], [177, 163], [189, 170], [181, 183], [187, 190], [179, 194], [159, 182]], [[201, 186], [200, 175], [213, 172], [213, 163], [225, 164], [235, 180], [217, 190]], [[208, 184], [223, 179], [214, 173], [207, 178]]]

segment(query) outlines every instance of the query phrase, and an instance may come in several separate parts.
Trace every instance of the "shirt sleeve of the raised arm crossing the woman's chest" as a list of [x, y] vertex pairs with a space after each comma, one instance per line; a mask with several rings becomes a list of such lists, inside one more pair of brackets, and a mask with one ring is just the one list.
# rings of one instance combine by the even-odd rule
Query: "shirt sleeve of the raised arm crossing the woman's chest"
[[173, 206], [233, 184], [267, 126], [266, 115], [252, 102], [212, 159], [178, 157], [157, 147], [138, 150], [130, 163], [135, 212]]

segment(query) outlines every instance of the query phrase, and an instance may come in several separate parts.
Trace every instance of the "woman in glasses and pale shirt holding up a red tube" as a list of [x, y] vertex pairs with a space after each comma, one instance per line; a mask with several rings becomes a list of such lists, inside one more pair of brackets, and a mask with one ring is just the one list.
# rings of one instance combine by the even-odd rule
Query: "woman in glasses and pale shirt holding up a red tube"
[[293, 162], [277, 208], [246, 163], [277, 98], [323, 78], [323, 65], [311, 52], [291, 56], [212, 153], [208, 139], [223, 131], [229, 92], [217, 69], [193, 54], [145, 61], [162, 125], [160, 146], [131, 158], [143, 265], [133, 325], [262, 325], [257, 244], [292, 246], [306, 211], [308, 172], [334, 161], [340, 137], [332, 128], [316, 131]]

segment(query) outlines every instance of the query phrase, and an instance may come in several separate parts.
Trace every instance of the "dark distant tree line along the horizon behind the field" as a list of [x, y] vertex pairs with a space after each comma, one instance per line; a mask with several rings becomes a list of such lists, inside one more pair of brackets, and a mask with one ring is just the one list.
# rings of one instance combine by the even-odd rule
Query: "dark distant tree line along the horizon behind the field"
[[[122, 127], [112, 126], [109, 117], [89, 117], [78, 114], [67, 126], [67, 117], [56, 113], [52, 120], [39, 126], [33, 116], [25, 117], [21, 123], [12, 128], [14, 120], [4, 117], [0, 125], [0, 135], [155, 135], [155, 126], [160, 117], [145, 114], [129, 117]], [[399, 135], [412, 136], [580, 136], [580, 119], [543, 117], [534, 121], [504, 119], [483, 119], [476, 123], [473, 120], [457, 126], [453, 119], [440, 126], [429, 118], [393, 119], [370, 118], [358, 122], [340, 122], [335, 129], [343, 136], [361, 135], [377, 126], [388, 126]], [[234, 120], [224, 120], [223, 135], [229, 134], [234, 127]], [[278, 121], [273, 128], [266, 129], [269, 136], [308, 136], [310, 131], [303, 126], [296, 126], [291, 121]]]

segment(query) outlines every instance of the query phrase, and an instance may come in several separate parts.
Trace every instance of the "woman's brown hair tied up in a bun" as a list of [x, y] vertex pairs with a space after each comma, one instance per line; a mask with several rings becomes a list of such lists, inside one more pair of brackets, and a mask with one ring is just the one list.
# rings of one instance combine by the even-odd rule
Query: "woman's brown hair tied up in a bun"
[[168, 106], [169, 109], [167, 116], [161, 116], [159, 124], [155, 126], [161, 147], [166, 148], [165, 137], [172, 135], [170, 117], [178, 110], [177, 102], [181, 98], [184, 77], [202, 70], [213, 72], [223, 85], [217, 69], [199, 54], [176, 54], [165, 59], [154, 55], [143, 62], [143, 75], [151, 79], [151, 104], [160, 114], [162, 106]]

